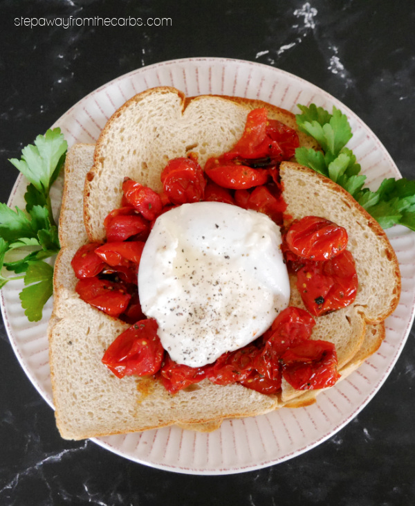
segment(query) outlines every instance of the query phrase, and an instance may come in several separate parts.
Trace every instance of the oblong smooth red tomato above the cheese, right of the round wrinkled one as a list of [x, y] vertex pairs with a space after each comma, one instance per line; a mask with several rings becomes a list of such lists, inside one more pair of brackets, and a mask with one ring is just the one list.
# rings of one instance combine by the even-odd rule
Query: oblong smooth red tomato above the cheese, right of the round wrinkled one
[[206, 162], [205, 172], [212, 181], [223, 188], [247, 190], [253, 186], [263, 185], [268, 180], [266, 169], [252, 169], [248, 165], [237, 165], [232, 162], [227, 165], [221, 163], [216, 165], [214, 160], [210, 159]]

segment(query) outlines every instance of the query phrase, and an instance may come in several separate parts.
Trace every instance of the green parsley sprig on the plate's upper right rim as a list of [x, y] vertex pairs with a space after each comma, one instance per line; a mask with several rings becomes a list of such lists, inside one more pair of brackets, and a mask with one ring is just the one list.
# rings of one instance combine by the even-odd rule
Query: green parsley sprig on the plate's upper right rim
[[342, 186], [382, 228], [400, 224], [415, 230], [415, 181], [389, 178], [376, 192], [364, 188], [366, 176], [360, 174], [356, 156], [346, 147], [352, 136], [347, 116], [335, 107], [332, 114], [315, 104], [298, 107], [302, 111], [296, 116], [299, 129], [315, 138], [323, 152], [298, 147], [297, 162]]

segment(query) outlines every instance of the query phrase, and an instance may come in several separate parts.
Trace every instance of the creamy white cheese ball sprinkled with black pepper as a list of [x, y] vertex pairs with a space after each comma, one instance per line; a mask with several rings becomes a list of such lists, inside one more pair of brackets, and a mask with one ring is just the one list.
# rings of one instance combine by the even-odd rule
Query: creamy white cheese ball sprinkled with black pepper
[[281, 241], [268, 216], [220, 202], [158, 217], [142, 251], [138, 293], [174, 361], [212, 363], [270, 327], [290, 298]]

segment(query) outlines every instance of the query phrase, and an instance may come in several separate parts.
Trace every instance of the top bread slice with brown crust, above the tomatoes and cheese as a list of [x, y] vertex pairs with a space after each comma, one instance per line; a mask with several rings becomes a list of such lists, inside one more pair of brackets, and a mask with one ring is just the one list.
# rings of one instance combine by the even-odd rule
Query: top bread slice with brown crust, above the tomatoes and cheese
[[[160, 87], [128, 100], [105, 125], [95, 148], [93, 168], [85, 186], [85, 227], [91, 241], [104, 240], [104, 218], [120, 207], [122, 179], [130, 177], [161, 190], [160, 172], [167, 161], [194, 152], [203, 167], [239, 140], [250, 109], [259, 100], [199, 96], [185, 99], [181, 91]], [[270, 117], [297, 129], [294, 114], [268, 105]], [[313, 138], [300, 133], [304, 147]]]

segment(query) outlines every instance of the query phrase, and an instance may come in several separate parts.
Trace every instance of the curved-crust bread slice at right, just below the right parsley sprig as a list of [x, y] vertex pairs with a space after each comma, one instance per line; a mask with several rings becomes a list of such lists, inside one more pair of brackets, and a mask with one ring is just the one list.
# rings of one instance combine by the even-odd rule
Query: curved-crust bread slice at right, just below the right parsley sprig
[[289, 162], [281, 164], [280, 174], [287, 215], [297, 219], [307, 209], [309, 215], [323, 216], [346, 228], [347, 249], [353, 254], [359, 279], [356, 300], [349, 308], [356, 309], [367, 323], [385, 320], [399, 302], [400, 271], [381, 226], [331, 179]]

